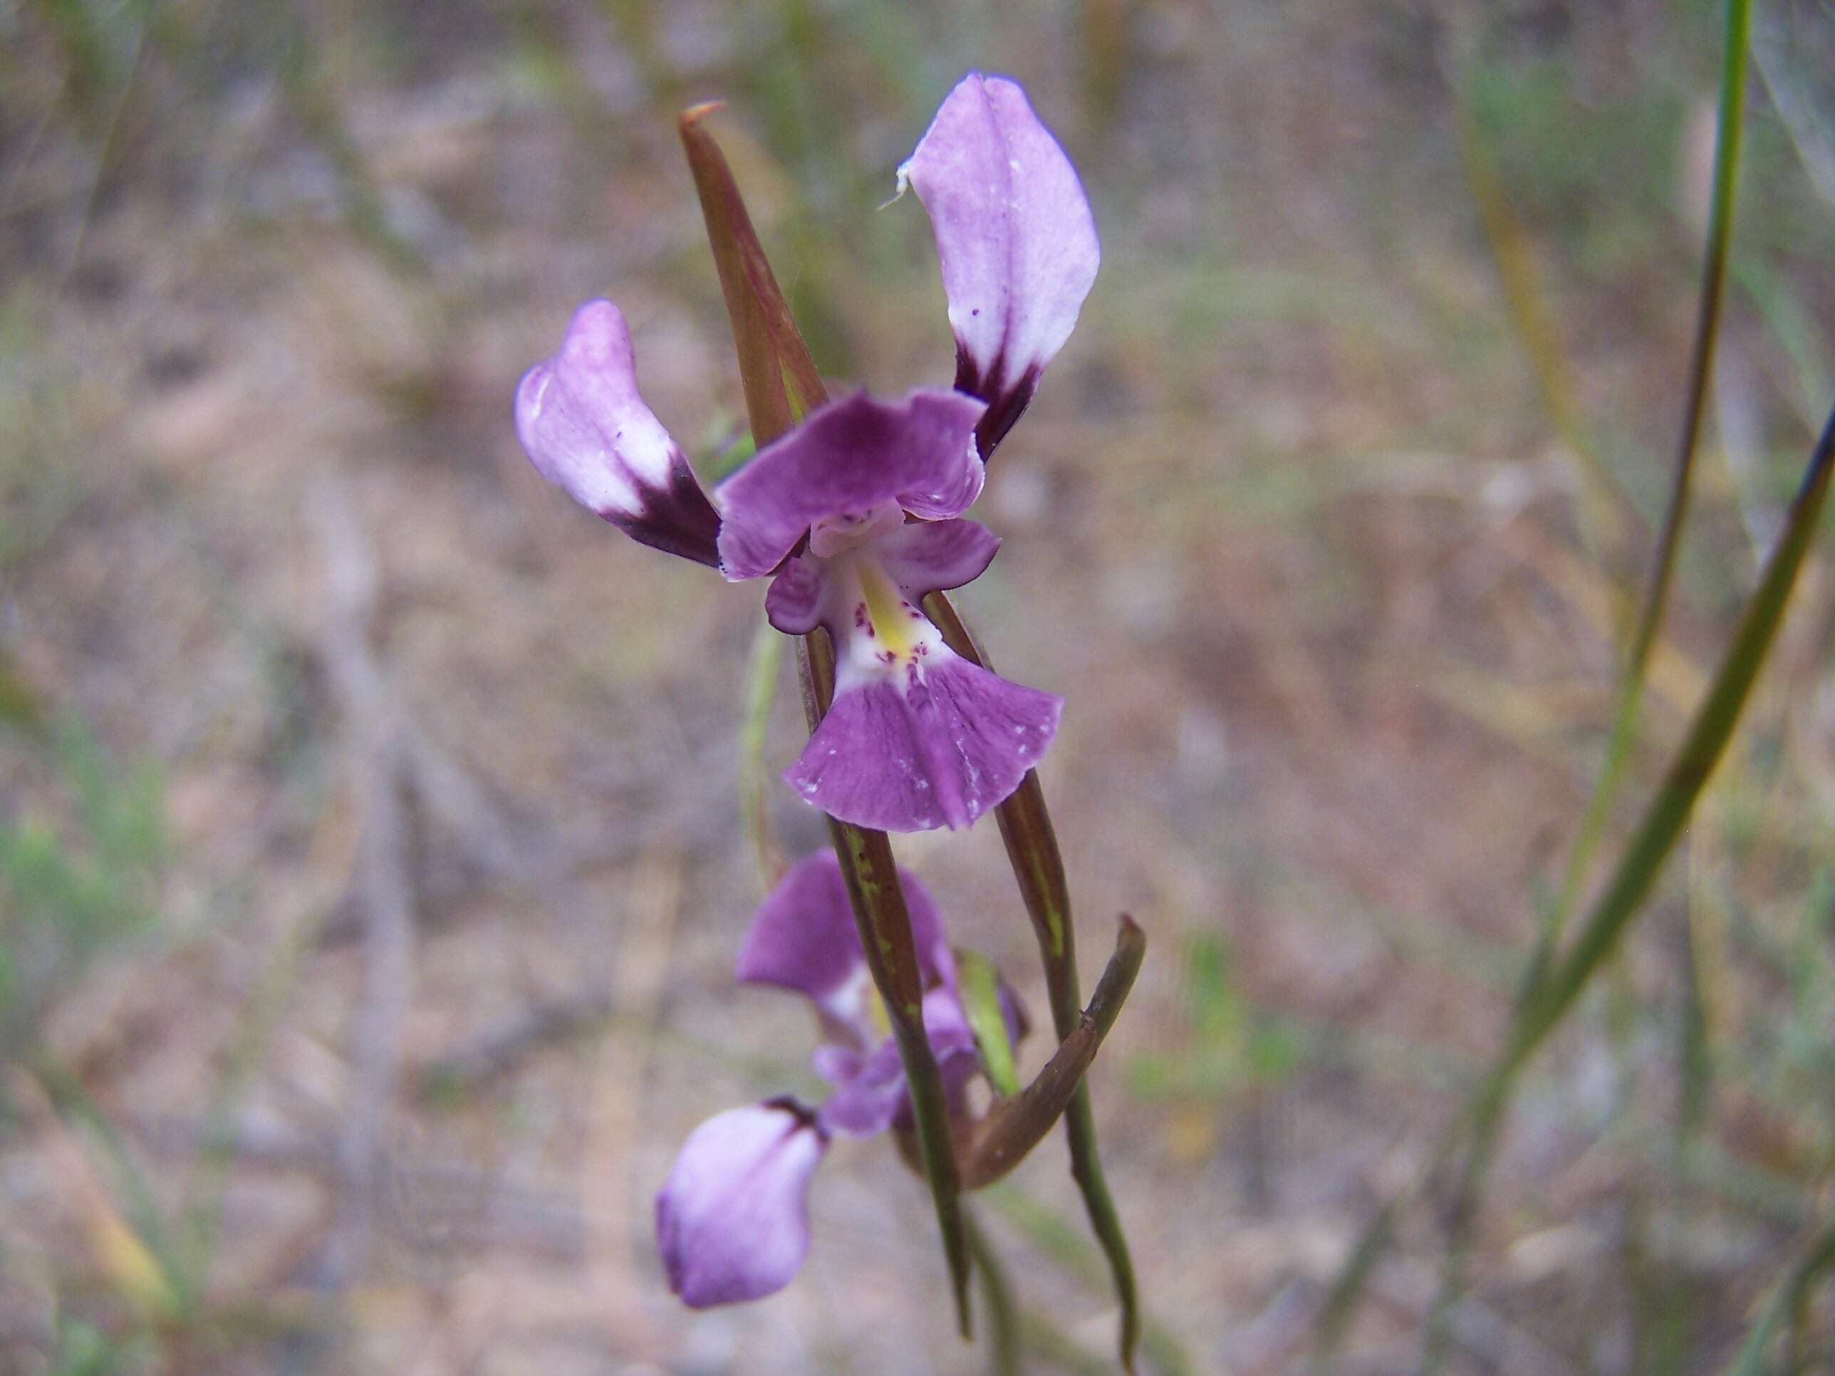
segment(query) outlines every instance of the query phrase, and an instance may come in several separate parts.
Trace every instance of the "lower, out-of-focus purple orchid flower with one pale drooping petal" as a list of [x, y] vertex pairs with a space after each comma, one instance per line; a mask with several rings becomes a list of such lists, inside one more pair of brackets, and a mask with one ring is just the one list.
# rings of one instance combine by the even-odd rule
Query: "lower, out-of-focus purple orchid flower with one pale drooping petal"
[[[956, 991], [956, 961], [936, 904], [899, 871], [925, 976], [923, 1022], [951, 1114], [967, 1112], [980, 1053]], [[791, 1282], [809, 1251], [809, 1178], [835, 1134], [870, 1137], [908, 1121], [905, 1071], [884, 1033], [835, 855], [798, 862], [752, 917], [736, 976], [802, 994], [822, 1046], [813, 1064], [833, 1092], [820, 1108], [769, 1099], [732, 1108], [688, 1134], [657, 1194], [657, 1249], [670, 1290], [694, 1308], [734, 1304]], [[1007, 1033], [1024, 1018], [1002, 991]]]

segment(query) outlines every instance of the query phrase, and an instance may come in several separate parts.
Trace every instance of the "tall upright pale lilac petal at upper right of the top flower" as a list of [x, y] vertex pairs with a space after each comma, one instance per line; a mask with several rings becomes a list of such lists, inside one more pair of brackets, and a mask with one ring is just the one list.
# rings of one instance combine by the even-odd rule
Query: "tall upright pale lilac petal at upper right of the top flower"
[[1101, 250], [1077, 171], [1026, 92], [969, 73], [899, 167], [930, 215], [956, 332], [956, 387], [987, 402], [993, 453], [1077, 323]]

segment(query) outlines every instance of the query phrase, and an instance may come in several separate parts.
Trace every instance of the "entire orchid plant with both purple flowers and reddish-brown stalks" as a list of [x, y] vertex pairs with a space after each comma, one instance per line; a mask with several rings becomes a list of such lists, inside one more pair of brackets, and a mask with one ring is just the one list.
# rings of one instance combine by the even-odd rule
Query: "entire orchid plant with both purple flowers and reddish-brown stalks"
[[[899, 169], [899, 189], [918, 193], [936, 229], [956, 334], [954, 387], [831, 402], [703, 127], [710, 108], [684, 114], [681, 132], [732, 317], [756, 457], [712, 501], [703, 494], [639, 396], [629, 330], [607, 301], [582, 306], [562, 350], [523, 378], [517, 433], [545, 477], [635, 539], [732, 582], [771, 578], [765, 615], [800, 637], [811, 730], [785, 782], [828, 815], [835, 859], [818, 881], [806, 860], [791, 877], [804, 888], [773, 893], [760, 914], [754, 936], [776, 934], [765, 982], [811, 994], [826, 1027], [846, 1022], [824, 1004], [839, 989], [829, 976], [846, 945], [833, 921], [844, 897], [853, 934], [842, 963], [868, 972], [890, 1037], [837, 1081], [820, 1112], [769, 1101], [694, 1134], [659, 1198], [672, 1284], [690, 1303], [749, 1299], [784, 1284], [807, 1242], [798, 1231], [802, 1191], [828, 1134], [872, 1123], [897, 1128], [930, 1182], [967, 1332], [960, 1191], [1004, 1174], [1066, 1115], [1073, 1174], [1110, 1257], [1130, 1361], [1132, 1268], [1081, 1081], [1140, 965], [1141, 936], [1123, 919], [1116, 958], [1090, 1007], [1079, 1009], [1062, 860], [1033, 772], [1062, 701], [993, 673], [943, 596], [980, 576], [1000, 549], [963, 512], [1095, 279], [1088, 202], [1024, 92], [998, 77], [965, 77]], [[971, 1007], [947, 945], [940, 956], [930, 938], [914, 934], [912, 919], [925, 917], [929, 903], [908, 901], [886, 837], [967, 827], [989, 809], [1039, 934], [1059, 1033], [1057, 1053], [1026, 1090], [995, 1071], [1011, 1064], [1002, 1053], [1004, 1038], [1018, 1033], [1017, 1015], [1000, 1011], [1006, 1004]], [[829, 936], [785, 936], [804, 923]], [[936, 932], [934, 917], [919, 930]], [[741, 961], [741, 978], [760, 978], [756, 963], [747, 974]], [[956, 1070], [945, 1073], [940, 1059]], [[897, 1068], [895, 1082], [888, 1066]], [[960, 1093], [963, 1068], [987, 1073], [996, 1090], [995, 1106], [973, 1121]], [[875, 1104], [866, 1117], [835, 1108], [861, 1093]]]

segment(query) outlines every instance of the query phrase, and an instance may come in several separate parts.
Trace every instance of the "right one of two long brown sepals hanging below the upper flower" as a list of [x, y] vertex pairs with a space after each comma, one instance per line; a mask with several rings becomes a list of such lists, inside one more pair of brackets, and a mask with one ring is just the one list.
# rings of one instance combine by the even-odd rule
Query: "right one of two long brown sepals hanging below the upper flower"
[[[989, 668], [987, 657], [947, 596], [932, 593], [923, 605], [951, 649], [982, 668]], [[1051, 815], [1046, 811], [1037, 771], [1026, 772], [1018, 791], [995, 809], [995, 818], [1000, 822], [1000, 840], [1007, 848], [1013, 879], [1020, 886], [1026, 915], [1031, 917], [1033, 934], [1039, 939], [1046, 994], [1051, 1000], [1051, 1026], [1062, 1042], [1077, 1029], [1083, 1015], [1083, 994], [1077, 989], [1077, 941], [1070, 921], [1070, 882], [1064, 879], [1064, 857], [1057, 848], [1057, 833], [1051, 829]], [[1064, 1110], [1064, 1137], [1070, 1143], [1072, 1180], [1083, 1193], [1083, 1207], [1090, 1216], [1095, 1240], [1108, 1259], [1108, 1273], [1121, 1304], [1121, 1365], [1134, 1370], [1134, 1350], [1141, 1332], [1140, 1288], [1121, 1215], [1116, 1213], [1116, 1200], [1103, 1176], [1103, 1158], [1095, 1147], [1095, 1112], [1090, 1106], [1090, 1088], [1081, 1081]]]

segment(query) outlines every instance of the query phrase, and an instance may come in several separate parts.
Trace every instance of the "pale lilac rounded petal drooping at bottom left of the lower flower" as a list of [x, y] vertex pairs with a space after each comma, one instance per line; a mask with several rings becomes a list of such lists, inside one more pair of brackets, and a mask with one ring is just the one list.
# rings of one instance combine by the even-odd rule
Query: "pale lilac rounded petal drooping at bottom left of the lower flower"
[[690, 1308], [760, 1299], [809, 1251], [809, 1176], [828, 1137], [791, 1101], [734, 1108], [697, 1126], [657, 1194], [657, 1251]]

